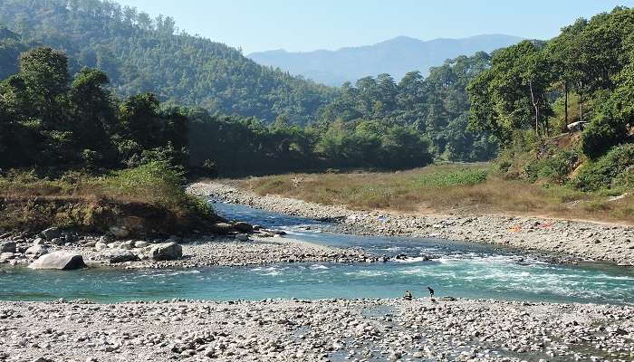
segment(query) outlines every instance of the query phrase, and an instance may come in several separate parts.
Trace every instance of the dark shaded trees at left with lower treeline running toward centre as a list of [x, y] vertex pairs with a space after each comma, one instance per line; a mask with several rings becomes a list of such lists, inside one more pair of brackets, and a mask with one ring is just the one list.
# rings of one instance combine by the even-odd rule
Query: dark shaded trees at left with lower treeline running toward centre
[[301, 127], [279, 116], [212, 115], [162, 103], [152, 93], [120, 99], [108, 75], [74, 76], [65, 53], [23, 43], [1, 29], [0, 59], [16, 69], [0, 83], [0, 167], [101, 172], [167, 162], [213, 176], [328, 167], [405, 168], [431, 162], [427, 138], [409, 126], [361, 122], [356, 131]]

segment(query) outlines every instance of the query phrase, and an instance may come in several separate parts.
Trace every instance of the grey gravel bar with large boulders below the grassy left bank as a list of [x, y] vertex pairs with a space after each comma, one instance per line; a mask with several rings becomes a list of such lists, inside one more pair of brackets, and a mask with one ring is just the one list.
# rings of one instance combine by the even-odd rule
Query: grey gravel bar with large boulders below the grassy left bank
[[[47, 232], [0, 237], [0, 266], [28, 265], [52, 253], [81, 255], [88, 265], [122, 268], [196, 268], [274, 262], [377, 262], [357, 248], [335, 248], [283, 237], [280, 232], [201, 235], [190, 238], [119, 240], [112, 236]], [[45, 268], [44, 268], [45, 269]]]

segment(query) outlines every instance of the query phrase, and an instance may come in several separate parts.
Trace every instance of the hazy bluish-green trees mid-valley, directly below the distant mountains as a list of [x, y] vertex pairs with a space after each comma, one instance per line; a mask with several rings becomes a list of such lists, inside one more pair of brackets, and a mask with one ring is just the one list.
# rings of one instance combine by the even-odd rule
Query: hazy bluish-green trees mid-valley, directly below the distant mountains
[[[320, 113], [318, 127], [330, 129], [332, 141], [330, 145], [322, 144], [322, 149], [336, 147], [337, 137], [340, 143], [371, 142], [362, 134], [353, 139], [341, 138], [345, 129], [336, 129], [341, 128], [338, 122], [345, 123], [346, 129], [364, 122], [378, 122], [423, 132], [431, 152], [439, 159], [476, 161], [494, 157], [497, 145], [490, 133], [466, 128], [469, 109], [466, 86], [488, 63], [489, 55], [478, 52], [432, 68], [427, 79], [412, 71], [399, 83], [389, 74], [379, 74], [376, 78], [362, 78], [354, 86], [343, 84], [339, 96]], [[344, 150], [336, 152], [342, 154]]]

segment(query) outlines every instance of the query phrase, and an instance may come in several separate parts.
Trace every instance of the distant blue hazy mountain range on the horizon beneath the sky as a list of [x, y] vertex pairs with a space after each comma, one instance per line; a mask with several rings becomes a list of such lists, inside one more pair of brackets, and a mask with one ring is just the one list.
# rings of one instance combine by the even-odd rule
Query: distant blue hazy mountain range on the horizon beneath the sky
[[458, 55], [492, 52], [519, 43], [523, 38], [504, 34], [477, 35], [464, 39], [422, 41], [399, 36], [374, 45], [341, 48], [336, 51], [286, 52], [275, 50], [247, 55], [263, 65], [279, 67], [293, 75], [339, 86], [368, 75], [389, 73], [396, 80], [408, 71], [427, 75], [429, 67], [441, 65]]

